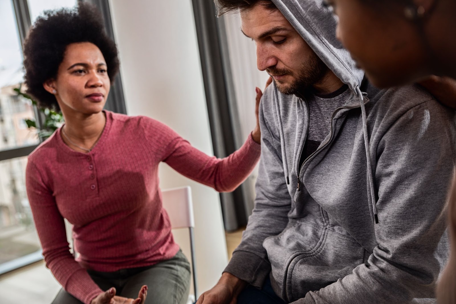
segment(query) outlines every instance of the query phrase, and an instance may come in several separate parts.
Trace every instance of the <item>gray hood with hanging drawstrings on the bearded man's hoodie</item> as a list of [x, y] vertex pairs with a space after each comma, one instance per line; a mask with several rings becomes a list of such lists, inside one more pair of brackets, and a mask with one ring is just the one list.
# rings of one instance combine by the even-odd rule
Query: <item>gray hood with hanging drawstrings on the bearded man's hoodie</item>
[[[324, 0], [272, 0], [280, 12], [290, 22], [291, 26], [301, 35], [316, 55], [332, 72], [352, 90], [354, 100], [358, 100], [363, 119], [364, 146], [367, 157], [367, 173], [370, 193], [370, 203], [373, 206], [375, 222], [378, 223], [375, 206], [372, 166], [369, 154], [369, 138], [367, 131], [366, 110], [364, 104], [368, 101], [360, 90], [363, 81], [363, 70], [356, 67], [350, 53], [342, 47], [336, 38], [337, 19], [332, 11], [324, 5]], [[279, 116], [280, 139], [282, 142], [282, 157], [285, 163], [285, 175], [289, 183], [288, 165], [285, 151], [285, 140], [280, 117], [280, 104], [277, 88], [274, 84], [274, 96]]]

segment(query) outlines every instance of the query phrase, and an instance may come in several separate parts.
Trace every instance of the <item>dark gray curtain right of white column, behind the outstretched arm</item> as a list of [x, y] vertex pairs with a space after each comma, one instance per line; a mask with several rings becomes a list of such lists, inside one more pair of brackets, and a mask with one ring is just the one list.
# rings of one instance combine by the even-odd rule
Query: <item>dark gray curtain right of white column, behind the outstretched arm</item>
[[[192, 2], [212, 145], [217, 157], [226, 157], [241, 147], [245, 138], [240, 135], [225, 27], [212, 0]], [[248, 183], [250, 180], [232, 193], [220, 194], [226, 231], [247, 225], [254, 199]]]

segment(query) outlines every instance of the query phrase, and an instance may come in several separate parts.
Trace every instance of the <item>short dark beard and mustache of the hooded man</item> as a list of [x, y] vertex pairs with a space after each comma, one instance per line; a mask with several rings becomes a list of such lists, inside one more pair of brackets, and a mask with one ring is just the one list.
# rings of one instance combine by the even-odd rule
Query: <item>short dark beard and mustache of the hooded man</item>
[[295, 73], [288, 69], [279, 69], [275, 67], [267, 68], [266, 72], [269, 75], [291, 75], [293, 81], [291, 83], [280, 83], [274, 79], [275, 85], [280, 93], [285, 95], [297, 94], [304, 92], [312, 85], [318, 83], [323, 79], [328, 71], [328, 67], [323, 61], [312, 52], [311, 57], [303, 63], [301, 69]]

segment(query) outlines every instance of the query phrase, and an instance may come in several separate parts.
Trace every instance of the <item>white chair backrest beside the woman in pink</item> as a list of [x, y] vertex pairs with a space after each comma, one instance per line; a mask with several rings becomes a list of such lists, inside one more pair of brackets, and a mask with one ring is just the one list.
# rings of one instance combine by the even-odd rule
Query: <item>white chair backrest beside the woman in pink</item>
[[161, 195], [163, 208], [170, 217], [173, 229], [195, 227], [190, 186], [166, 189], [161, 192]]

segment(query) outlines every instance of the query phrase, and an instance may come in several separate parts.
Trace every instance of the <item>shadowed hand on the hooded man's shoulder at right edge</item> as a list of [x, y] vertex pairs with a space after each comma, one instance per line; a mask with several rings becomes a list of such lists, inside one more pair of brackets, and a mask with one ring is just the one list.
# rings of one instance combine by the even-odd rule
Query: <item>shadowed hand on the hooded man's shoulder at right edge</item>
[[456, 109], [456, 80], [449, 77], [430, 76], [419, 82], [441, 104]]

